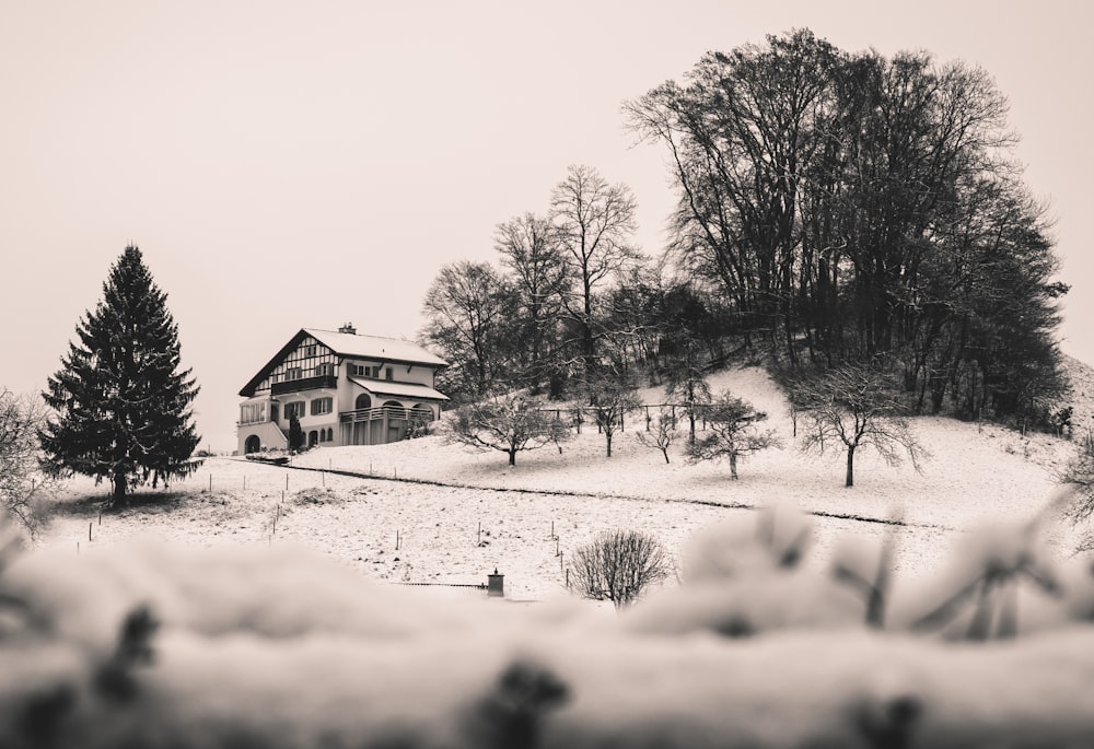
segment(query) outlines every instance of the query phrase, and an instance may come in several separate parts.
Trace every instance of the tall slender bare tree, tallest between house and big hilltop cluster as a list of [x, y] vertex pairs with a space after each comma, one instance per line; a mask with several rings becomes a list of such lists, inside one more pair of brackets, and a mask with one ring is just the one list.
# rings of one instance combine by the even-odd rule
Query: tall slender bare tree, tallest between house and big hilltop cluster
[[551, 220], [574, 283], [566, 312], [578, 325], [586, 368], [596, 359], [594, 292], [638, 256], [629, 244], [637, 229], [636, 210], [630, 188], [609, 185], [591, 166], [570, 166], [551, 192]]

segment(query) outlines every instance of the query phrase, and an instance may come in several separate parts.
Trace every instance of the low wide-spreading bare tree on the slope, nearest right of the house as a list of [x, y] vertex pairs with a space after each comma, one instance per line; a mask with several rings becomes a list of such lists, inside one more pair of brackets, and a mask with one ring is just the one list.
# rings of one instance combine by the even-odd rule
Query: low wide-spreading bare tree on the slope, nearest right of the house
[[[458, 409], [447, 428], [447, 438], [479, 449], [496, 449], [509, 455], [516, 465], [516, 454], [568, 440], [569, 430], [540, 400], [524, 396], [496, 398]], [[561, 452], [561, 447], [559, 447]]]

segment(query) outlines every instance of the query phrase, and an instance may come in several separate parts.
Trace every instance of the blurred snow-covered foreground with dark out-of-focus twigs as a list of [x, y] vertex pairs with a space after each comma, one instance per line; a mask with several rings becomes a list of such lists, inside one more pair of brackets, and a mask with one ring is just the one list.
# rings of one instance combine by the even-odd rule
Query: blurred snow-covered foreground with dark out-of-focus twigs
[[289, 543], [2, 554], [0, 746], [1094, 746], [1094, 575], [1036, 522], [915, 589], [808, 519], [696, 537], [619, 616], [362, 580]]

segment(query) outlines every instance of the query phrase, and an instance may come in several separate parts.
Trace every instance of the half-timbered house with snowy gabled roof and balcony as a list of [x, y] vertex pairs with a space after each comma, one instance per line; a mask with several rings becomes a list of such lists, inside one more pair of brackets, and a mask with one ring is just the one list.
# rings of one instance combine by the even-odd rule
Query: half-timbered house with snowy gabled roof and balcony
[[417, 343], [303, 328], [240, 395], [240, 453], [287, 448], [300, 421], [309, 446], [379, 445], [406, 436], [417, 420], [441, 416], [447, 398], [434, 388], [447, 363]]

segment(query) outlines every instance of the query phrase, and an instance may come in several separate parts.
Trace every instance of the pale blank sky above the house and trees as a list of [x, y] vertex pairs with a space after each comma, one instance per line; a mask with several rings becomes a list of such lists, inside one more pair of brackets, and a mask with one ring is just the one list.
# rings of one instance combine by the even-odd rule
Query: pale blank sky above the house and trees
[[630, 186], [660, 253], [665, 154], [620, 105], [712, 49], [808, 27], [992, 74], [1050, 201], [1066, 352], [1094, 363], [1090, 3], [0, 0], [0, 386], [39, 391], [138, 245], [200, 386], [202, 447], [302, 327], [416, 338], [443, 264], [494, 260], [570, 164]]

